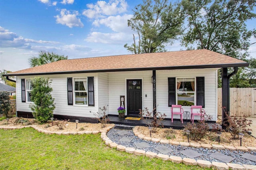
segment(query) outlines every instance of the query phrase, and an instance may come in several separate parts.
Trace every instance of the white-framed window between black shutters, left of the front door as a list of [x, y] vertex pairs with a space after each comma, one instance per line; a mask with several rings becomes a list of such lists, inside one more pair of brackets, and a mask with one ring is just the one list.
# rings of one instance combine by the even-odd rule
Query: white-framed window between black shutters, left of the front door
[[73, 96], [75, 105], [88, 106], [87, 77], [73, 79]]

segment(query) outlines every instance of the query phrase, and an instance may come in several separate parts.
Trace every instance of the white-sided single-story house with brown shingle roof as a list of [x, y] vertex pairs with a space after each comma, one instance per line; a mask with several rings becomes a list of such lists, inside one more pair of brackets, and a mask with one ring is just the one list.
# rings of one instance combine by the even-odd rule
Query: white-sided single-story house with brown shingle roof
[[18, 116], [32, 116], [31, 78], [43, 76], [52, 82], [56, 118], [94, 122], [93, 113], [106, 105], [108, 114], [118, 115], [120, 97], [124, 97], [127, 116], [157, 106], [170, 119], [172, 104], [182, 104], [184, 111], [202, 105], [216, 121], [217, 71], [222, 68], [225, 74], [226, 68], [239, 66], [248, 63], [203, 49], [62, 60], [5, 76], [16, 76]]

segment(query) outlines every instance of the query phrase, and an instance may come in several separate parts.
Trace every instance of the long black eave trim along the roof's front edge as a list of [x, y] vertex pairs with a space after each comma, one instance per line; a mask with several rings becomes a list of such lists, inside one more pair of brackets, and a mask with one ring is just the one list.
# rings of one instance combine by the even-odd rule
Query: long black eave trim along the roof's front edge
[[35, 75], [52, 75], [52, 74], [74, 74], [74, 73], [91, 73], [91, 72], [118, 72], [118, 71], [146, 71], [146, 70], [178, 70], [178, 69], [199, 69], [199, 68], [224, 68], [224, 67], [245, 67], [249, 63], [226, 63], [226, 64], [207, 64], [207, 65], [187, 65], [187, 66], [165, 66], [165, 67], [144, 67], [144, 68], [116, 68], [102, 70], [74, 70], [61, 72], [37, 72], [37, 73], [17, 73], [3, 74], [3, 76], [35, 76]]

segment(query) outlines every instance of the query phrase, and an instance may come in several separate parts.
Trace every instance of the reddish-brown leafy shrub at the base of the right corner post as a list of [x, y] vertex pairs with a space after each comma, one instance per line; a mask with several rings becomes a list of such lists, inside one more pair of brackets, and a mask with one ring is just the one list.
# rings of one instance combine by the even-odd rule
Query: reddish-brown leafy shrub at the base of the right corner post
[[223, 124], [227, 127], [226, 131], [228, 131], [231, 134], [233, 139], [238, 139], [238, 133], [247, 133], [248, 131], [252, 130], [248, 128], [248, 126], [252, 124], [252, 121], [248, 120], [246, 116], [230, 116], [228, 115], [228, 113], [226, 113], [226, 117], [227, 120], [223, 121]]

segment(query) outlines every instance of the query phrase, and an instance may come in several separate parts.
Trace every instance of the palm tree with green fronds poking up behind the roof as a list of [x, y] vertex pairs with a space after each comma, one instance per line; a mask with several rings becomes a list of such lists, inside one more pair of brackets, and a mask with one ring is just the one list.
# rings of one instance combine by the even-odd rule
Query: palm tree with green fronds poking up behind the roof
[[47, 64], [47, 63], [52, 63], [55, 61], [60, 61], [60, 60], [67, 60], [68, 56], [64, 56], [64, 55], [58, 55], [55, 53], [50, 53], [50, 52], [46, 52], [46, 51], [40, 51], [38, 54], [38, 57], [31, 57], [30, 59], [28, 59], [29, 65], [30, 67], [34, 67], [34, 66], [40, 66], [43, 64]]

